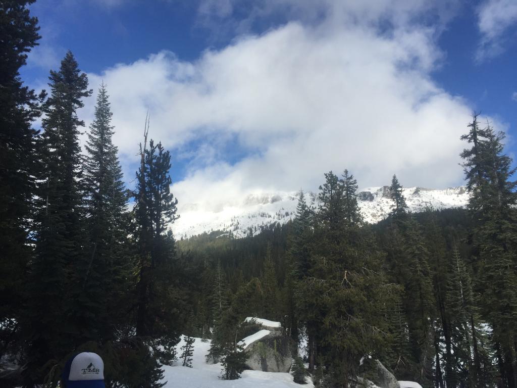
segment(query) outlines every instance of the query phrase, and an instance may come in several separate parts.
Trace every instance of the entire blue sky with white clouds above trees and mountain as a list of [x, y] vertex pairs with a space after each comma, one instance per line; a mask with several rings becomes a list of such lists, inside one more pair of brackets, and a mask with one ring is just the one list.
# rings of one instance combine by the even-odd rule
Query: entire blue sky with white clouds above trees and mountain
[[129, 187], [148, 112], [180, 213], [317, 190], [345, 168], [361, 188], [393, 174], [461, 185], [473, 112], [517, 150], [515, 0], [39, 0], [31, 13], [42, 39], [22, 79], [47, 87], [71, 50], [94, 89], [85, 132], [107, 84]]

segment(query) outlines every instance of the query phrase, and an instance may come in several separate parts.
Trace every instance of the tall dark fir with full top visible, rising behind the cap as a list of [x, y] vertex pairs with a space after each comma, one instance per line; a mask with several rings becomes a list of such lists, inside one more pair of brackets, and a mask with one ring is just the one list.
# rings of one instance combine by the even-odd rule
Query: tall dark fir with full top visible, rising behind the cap
[[31, 372], [36, 372], [43, 360], [59, 358], [93, 335], [88, 306], [74, 300], [87, 272], [79, 146], [79, 127], [84, 123], [77, 110], [83, 107], [82, 98], [92, 92], [71, 52], [59, 71], [51, 71], [49, 86], [40, 144], [36, 256], [27, 311], [32, 322], [31, 353], [39, 360], [27, 369]]

